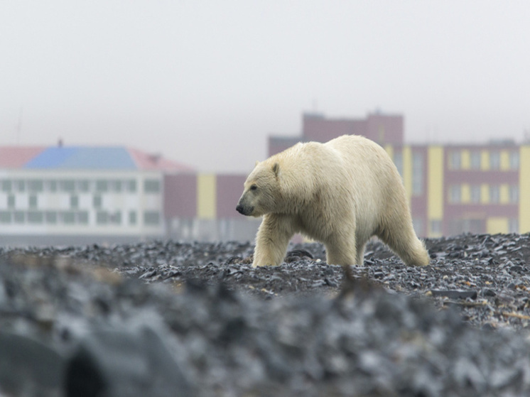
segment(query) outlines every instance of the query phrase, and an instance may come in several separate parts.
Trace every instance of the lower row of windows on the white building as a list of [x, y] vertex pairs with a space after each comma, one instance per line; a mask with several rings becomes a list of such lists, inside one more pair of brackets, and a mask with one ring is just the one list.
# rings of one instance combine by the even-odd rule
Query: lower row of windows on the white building
[[[128, 223], [137, 222], [136, 211], [129, 211]], [[88, 211], [0, 211], [0, 224], [89, 224]], [[121, 211], [97, 211], [95, 222], [98, 225], [122, 225]], [[144, 212], [144, 224], [157, 226], [161, 222], [160, 212]]]

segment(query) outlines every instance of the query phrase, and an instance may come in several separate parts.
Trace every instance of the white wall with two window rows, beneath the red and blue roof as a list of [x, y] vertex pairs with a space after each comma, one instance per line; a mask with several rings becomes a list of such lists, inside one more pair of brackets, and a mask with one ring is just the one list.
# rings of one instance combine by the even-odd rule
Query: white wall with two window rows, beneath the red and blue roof
[[0, 236], [162, 236], [160, 172], [1, 170]]

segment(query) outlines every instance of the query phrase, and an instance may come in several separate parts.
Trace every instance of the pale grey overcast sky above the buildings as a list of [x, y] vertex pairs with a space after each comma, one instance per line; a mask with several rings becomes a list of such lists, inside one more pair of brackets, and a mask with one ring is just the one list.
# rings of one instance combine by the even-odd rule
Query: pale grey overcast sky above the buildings
[[303, 111], [377, 108], [404, 114], [409, 142], [521, 141], [529, 21], [526, 0], [3, 0], [0, 145], [247, 172]]

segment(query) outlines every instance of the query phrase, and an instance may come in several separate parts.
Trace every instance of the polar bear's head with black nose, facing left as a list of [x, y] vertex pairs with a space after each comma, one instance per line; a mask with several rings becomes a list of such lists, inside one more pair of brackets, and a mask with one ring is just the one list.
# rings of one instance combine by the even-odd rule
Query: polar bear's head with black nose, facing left
[[244, 183], [244, 190], [236, 210], [250, 217], [261, 217], [275, 212], [278, 205], [278, 176], [280, 165], [264, 161], [256, 163]]

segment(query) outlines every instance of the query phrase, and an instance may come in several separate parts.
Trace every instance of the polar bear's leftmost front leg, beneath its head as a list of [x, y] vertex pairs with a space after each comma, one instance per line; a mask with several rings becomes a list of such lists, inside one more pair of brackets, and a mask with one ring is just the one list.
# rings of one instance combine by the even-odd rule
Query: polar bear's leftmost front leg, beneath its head
[[285, 258], [287, 245], [293, 234], [292, 224], [288, 217], [266, 214], [256, 235], [252, 267], [280, 265]]

